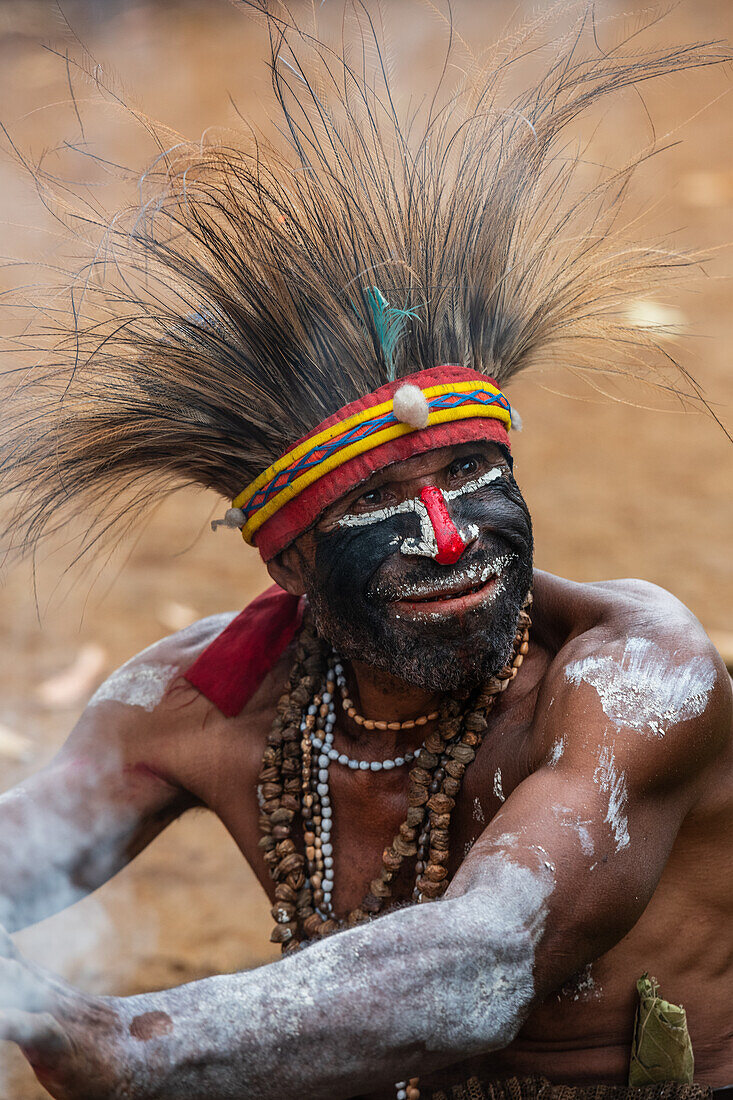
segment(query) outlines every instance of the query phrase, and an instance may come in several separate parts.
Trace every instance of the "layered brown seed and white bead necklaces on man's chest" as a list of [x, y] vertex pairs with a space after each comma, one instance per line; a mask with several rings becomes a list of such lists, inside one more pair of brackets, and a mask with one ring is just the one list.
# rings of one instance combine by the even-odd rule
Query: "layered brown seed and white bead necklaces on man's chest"
[[[339, 928], [376, 916], [392, 898], [392, 883], [407, 858], [415, 860], [415, 902], [440, 898], [448, 888], [450, 815], [466, 768], [473, 760], [488, 726], [488, 715], [516, 676], [528, 649], [532, 594], [519, 612], [510, 662], [468, 704], [448, 697], [436, 712], [430, 730], [414, 754], [389, 760], [354, 760], [333, 748], [336, 689], [347, 714], [343, 666], [318, 637], [307, 618], [300, 631], [288, 690], [277, 702], [260, 771], [262, 837], [259, 846], [275, 881], [270, 937], [283, 954]], [[347, 706], [346, 704], [349, 704]], [[354, 712], [355, 714], [355, 712]], [[349, 714], [349, 717], [354, 715]], [[418, 725], [419, 719], [413, 719]], [[435, 721], [424, 716], [419, 725]], [[365, 728], [371, 728], [364, 719]], [[374, 728], [382, 728], [382, 723]], [[385, 728], [393, 728], [386, 724]], [[403, 726], [404, 728], [404, 726]], [[346, 920], [332, 908], [333, 849], [329, 767], [337, 762], [363, 771], [391, 770], [416, 760], [408, 776], [407, 815], [382, 854], [382, 867], [360, 905]], [[304, 851], [293, 839], [297, 815], [303, 822]], [[418, 1100], [417, 1078], [400, 1081], [397, 1100]]]

